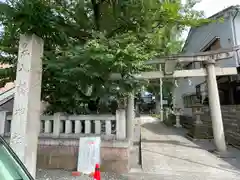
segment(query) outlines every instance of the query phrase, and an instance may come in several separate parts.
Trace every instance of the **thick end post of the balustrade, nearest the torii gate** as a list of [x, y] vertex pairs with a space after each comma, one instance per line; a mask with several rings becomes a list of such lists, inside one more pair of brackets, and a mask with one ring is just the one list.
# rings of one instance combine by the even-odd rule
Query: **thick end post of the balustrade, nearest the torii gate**
[[126, 139], [126, 112], [124, 109], [118, 109], [116, 111], [116, 126], [117, 139]]

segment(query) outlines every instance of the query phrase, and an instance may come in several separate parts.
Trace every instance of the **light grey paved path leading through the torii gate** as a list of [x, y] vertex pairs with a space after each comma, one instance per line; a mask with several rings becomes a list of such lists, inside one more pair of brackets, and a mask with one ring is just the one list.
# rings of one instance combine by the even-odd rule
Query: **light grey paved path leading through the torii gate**
[[240, 180], [237, 168], [189, 141], [175, 128], [160, 122], [146, 123], [141, 137], [142, 168], [149, 179]]

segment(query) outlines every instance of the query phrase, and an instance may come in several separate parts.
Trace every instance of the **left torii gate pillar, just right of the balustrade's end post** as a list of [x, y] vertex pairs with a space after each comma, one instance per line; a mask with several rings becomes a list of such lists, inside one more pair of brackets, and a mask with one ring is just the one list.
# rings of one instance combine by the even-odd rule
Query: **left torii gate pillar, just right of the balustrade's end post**
[[133, 139], [134, 132], [134, 94], [131, 93], [127, 99], [127, 138]]

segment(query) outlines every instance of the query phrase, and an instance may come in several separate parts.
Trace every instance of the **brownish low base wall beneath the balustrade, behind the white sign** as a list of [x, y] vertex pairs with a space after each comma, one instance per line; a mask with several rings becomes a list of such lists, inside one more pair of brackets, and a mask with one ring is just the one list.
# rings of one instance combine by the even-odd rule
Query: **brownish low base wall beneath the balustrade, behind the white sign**
[[[37, 168], [76, 170], [79, 140], [40, 140]], [[127, 141], [102, 142], [101, 171], [127, 173], [129, 171], [129, 143]]]

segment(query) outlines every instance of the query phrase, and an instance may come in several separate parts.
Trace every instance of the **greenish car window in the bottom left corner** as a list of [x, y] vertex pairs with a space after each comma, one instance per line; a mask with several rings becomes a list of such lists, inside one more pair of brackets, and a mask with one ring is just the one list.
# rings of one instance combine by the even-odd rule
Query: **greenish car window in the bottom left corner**
[[23, 163], [0, 136], [0, 179], [33, 180]]

